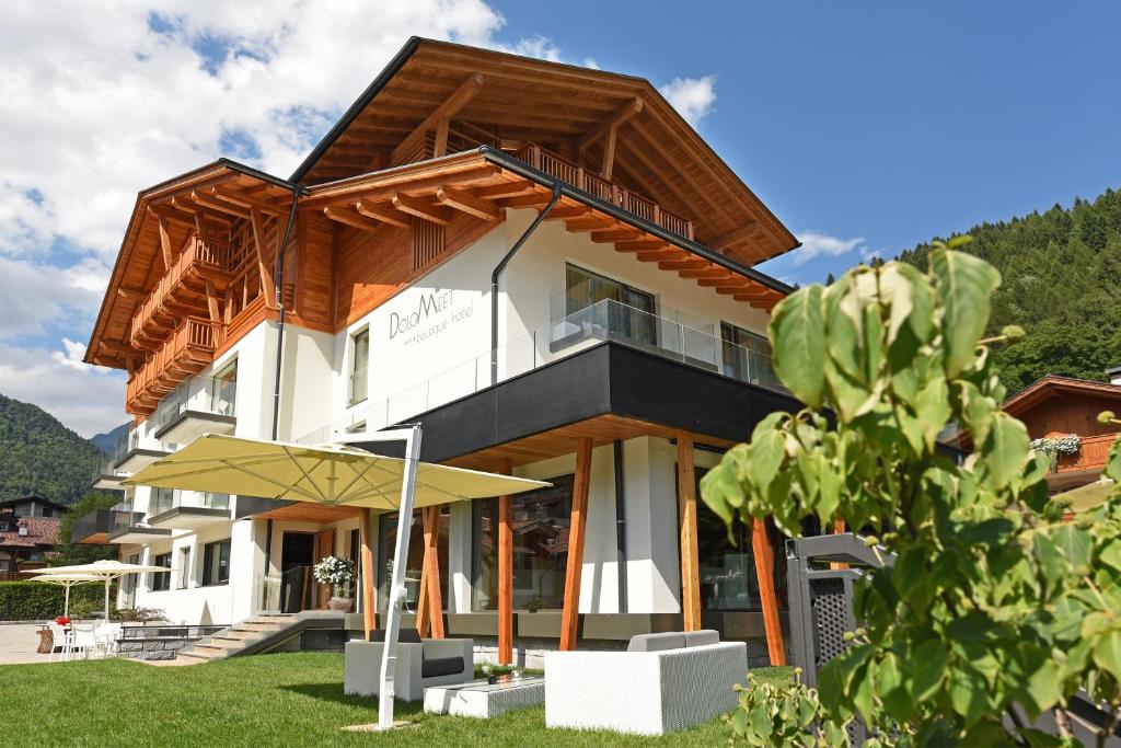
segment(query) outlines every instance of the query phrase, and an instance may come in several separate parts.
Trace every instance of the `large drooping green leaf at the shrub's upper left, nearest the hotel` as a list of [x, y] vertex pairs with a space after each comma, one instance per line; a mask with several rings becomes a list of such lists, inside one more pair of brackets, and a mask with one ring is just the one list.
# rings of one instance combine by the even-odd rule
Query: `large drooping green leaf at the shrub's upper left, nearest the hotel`
[[825, 323], [822, 287], [807, 286], [782, 299], [770, 321], [775, 371], [787, 389], [812, 408], [825, 382]]

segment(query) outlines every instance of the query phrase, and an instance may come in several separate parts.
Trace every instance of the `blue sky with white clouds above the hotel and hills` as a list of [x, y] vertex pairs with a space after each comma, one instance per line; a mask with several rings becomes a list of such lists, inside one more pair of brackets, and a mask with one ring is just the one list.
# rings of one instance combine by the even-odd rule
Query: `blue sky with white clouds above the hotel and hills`
[[1121, 187], [1121, 3], [0, 3], [0, 394], [84, 435], [82, 363], [137, 191], [225, 155], [288, 175], [410, 35], [648, 77], [805, 241], [873, 253]]

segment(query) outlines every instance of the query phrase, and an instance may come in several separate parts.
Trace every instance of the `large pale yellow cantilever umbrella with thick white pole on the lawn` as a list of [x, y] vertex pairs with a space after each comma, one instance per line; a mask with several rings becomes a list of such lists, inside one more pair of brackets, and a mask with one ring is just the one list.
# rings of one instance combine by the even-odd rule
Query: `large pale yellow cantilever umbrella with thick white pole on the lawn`
[[509, 496], [549, 483], [420, 462], [419, 426], [363, 434], [361, 440], [405, 442], [406, 456], [387, 458], [345, 444], [308, 446], [206, 434], [122, 482], [398, 511], [378, 705], [378, 728], [389, 729], [414, 507]]

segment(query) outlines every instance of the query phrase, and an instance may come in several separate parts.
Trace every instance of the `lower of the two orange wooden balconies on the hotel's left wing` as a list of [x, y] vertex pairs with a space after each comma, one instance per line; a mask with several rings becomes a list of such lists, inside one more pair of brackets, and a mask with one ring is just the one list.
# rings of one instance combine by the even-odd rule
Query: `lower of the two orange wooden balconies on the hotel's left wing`
[[184, 320], [129, 377], [124, 386], [124, 409], [138, 416], [154, 413], [179, 382], [211, 364], [223, 340], [222, 324], [202, 317]]

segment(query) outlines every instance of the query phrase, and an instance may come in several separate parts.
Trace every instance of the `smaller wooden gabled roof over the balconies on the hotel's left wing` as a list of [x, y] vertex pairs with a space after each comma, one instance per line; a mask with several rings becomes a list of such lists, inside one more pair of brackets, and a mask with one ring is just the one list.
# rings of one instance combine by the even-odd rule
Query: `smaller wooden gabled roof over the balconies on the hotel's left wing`
[[[287, 211], [293, 190], [298, 187], [250, 166], [220, 158], [141, 191], [117, 253], [84, 361], [123, 369], [130, 358], [140, 357], [140, 352], [128, 343], [129, 324], [137, 306], [167, 269], [163, 265], [158, 219], [166, 218], [163, 224], [173, 251], [194, 231], [194, 215], [184, 213], [180, 204], [173, 204], [173, 200], [186, 195], [189, 203], [191, 196], [200, 198], [205, 193], [202, 200], [239, 201], [238, 204], [252, 201], [253, 205]], [[209, 211], [204, 205], [195, 205], [195, 210]], [[216, 212], [209, 215], [223, 220]]]

